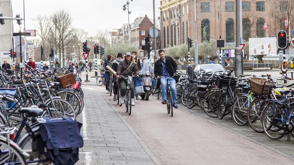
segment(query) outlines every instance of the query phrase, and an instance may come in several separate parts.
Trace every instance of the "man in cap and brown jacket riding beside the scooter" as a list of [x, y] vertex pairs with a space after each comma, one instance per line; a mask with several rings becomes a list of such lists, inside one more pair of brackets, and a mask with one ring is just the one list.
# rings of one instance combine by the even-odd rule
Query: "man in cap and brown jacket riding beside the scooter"
[[[131, 59], [131, 53], [127, 52], [125, 54], [125, 58], [124, 60], [119, 64], [118, 69], [117, 69], [117, 78], [118, 78], [118, 82], [119, 82], [119, 88], [120, 88], [120, 92], [121, 92], [121, 103], [124, 103], [124, 95], [125, 95], [125, 91], [126, 91], [126, 86], [127, 86], [127, 82], [124, 79], [119, 79], [120, 75], [127, 77], [127, 76], [132, 76], [133, 73], [135, 73], [135, 75], [139, 76], [139, 68], [138, 65], [136, 63], [134, 63]], [[132, 81], [131, 84], [129, 85], [130, 87], [130, 91], [131, 91], [131, 105], [135, 106], [135, 93], [134, 93], [134, 82]]]

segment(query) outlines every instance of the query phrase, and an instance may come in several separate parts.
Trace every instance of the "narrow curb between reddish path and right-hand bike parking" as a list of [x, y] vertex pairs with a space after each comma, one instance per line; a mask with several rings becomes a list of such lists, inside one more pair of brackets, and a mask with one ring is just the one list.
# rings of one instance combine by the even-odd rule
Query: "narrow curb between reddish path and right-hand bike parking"
[[[152, 96], [153, 96], [153, 95], [152, 95]], [[154, 97], [154, 96], [153, 96], [153, 97]], [[156, 97], [156, 99], [157, 99], [157, 97]], [[229, 129], [229, 128], [226, 128], [226, 127], [224, 127], [224, 126], [222, 126], [222, 125], [220, 125], [220, 124], [218, 124], [218, 123], [215, 123], [215, 122], [213, 122], [213, 121], [210, 121], [210, 120], [207, 119], [207, 118], [203, 118], [203, 117], [200, 117], [200, 116], [198, 116], [198, 115], [196, 115], [196, 114], [193, 114], [192, 112], [189, 112], [188, 110], [183, 109], [182, 106], [183, 106], [183, 105], [180, 105], [178, 109], [181, 110], [181, 111], [183, 111], [183, 112], [186, 112], [186, 113], [188, 113], [188, 114], [191, 114], [191, 115], [193, 115], [193, 116], [196, 116], [196, 117], [198, 117], [198, 118], [202, 118], [202, 119], [204, 119], [204, 120], [206, 120], [206, 121], [208, 121], [208, 122], [210, 122], [210, 123], [212, 123], [212, 124], [214, 124], [214, 125], [216, 125], [216, 126], [218, 126], [218, 127], [221, 127], [221, 128], [223, 128], [223, 129], [225, 129], [225, 130], [227, 130], [227, 131], [230, 131], [230, 132], [236, 134], [236, 135], [239, 135], [239, 136], [241, 136], [242, 138], [245, 138], [245, 139], [248, 140], [248, 141], [252, 141], [252, 142], [254, 142], [254, 143], [256, 143], [256, 144], [259, 144], [259, 145], [261, 145], [261, 146], [263, 146], [263, 147], [265, 147], [265, 148], [268, 148], [268, 149], [272, 150], [273, 152], [276, 152], [276, 153], [278, 153], [278, 154], [280, 154], [280, 155], [282, 155], [282, 156], [284, 156], [284, 157], [286, 157], [286, 158], [289, 158], [289, 159], [291, 159], [291, 160], [294, 161], [294, 157], [292, 157], [292, 156], [290, 156], [290, 155], [288, 155], [288, 154], [285, 154], [285, 153], [282, 152], [282, 151], [279, 151], [279, 150], [277, 150], [277, 149], [275, 149], [275, 148], [272, 148], [272, 147], [270, 147], [270, 146], [268, 146], [268, 145], [266, 145], [266, 144], [263, 144], [263, 143], [261, 143], [261, 142], [255, 141], [255, 140], [253, 140], [253, 139], [251, 139], [251, 138], [248, 138], [248, 137], [246, 137], [245, 135], [243, 135], [243, 134], [241, 134], [241, 133], [239, 133], [239, 132], [236, 132], [236, 131], [234, 131], [234, 130], [231, 130], [231, 129]], [[201, 110], [201, 111], [203, 111], [203, 110]]]

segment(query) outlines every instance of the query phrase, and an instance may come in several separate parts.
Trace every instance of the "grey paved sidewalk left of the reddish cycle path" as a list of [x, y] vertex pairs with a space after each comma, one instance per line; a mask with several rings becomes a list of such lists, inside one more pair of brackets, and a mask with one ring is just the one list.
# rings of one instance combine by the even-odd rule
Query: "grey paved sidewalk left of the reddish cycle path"
[[77, 120], [84, 147], [76, 165], [161, 165], [98, 86], [83, 87], [85, 107]]

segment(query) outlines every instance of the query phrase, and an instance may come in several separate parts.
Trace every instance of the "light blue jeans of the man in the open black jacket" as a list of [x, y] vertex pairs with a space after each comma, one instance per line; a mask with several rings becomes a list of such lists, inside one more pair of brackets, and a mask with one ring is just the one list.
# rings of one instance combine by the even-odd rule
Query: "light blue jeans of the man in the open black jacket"
[[[167, 81], [165, 78], [160, 78], [162, 100], [167, 100]], [[172, 90], [172, 103], [176, 103], [175, 80], [173, 78], [170, 78], [170, 88]]]

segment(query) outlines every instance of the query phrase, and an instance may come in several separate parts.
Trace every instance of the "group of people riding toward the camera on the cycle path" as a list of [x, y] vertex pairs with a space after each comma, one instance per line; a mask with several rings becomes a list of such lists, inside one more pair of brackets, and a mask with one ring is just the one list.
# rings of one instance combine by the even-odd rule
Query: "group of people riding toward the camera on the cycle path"
[[[157, 79], [156, 90], [159, 90], [160, 85], [162, 86], [162, 104], [167, 104], [167, 79], [169, 78], [172, 90], [172, 101], [173, 107], [178, 108], [176, 105], [176, 88], [175, 88], [175, 79], [172, 78], [173, 74], [177, 70], [177, 64], [172, 59], [172, 57], [165, 56], [164, 50], [158, 51], [160, 55], [160, 59], [158, 59], [154, 63], [154, 68], [149, 67], [151, 74], [154, 78]], [[142, 60], [143, 63], [144, 59]], [[116, 75], [112, 75], [111, 72], [107, 69], [107, 66], [111, 67], [112, 70], [116, 72]], [[125, 91], [127, 87], [127, 82], [125, 79], [120, 78], [120, 76], [138, 76], [140, 75], [140, 70], [142, 69], [143, 65], [141, 65], [141, 61], [137, 56], [137, 52], [127, 52], [124, 56], [122, 53], [115, 54], [115, 60], [111, 55], [107, 56], [105, 61], [100, 63], [100, 74], [104, 78], [106, 94], [109, 93], [109, 79], [110, 76], [113, 76], [113, 87], [114, 87], [114, 98], [113, 100], [116, 101], [118, 89], [120, 89], [121, 95], [121, 102], [124, 101]], [[163, 78], [164, 77], [164, 78]], [[154, 85], [152, 81], [152, 85]], [[131, 105], [135, 106], [135, 98], [138, 100], [139, 95], [135, 94], [134, 92], [134, 83], [133, 81], [129, 84], [130, 91], [131, 91]]]

